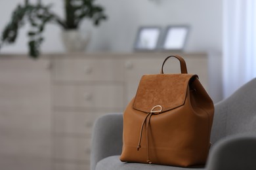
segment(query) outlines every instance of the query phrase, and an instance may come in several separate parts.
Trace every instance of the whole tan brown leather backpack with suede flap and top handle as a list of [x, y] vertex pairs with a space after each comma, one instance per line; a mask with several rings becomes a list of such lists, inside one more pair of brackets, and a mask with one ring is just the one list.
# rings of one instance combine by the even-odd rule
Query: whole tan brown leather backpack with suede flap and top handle
[[[163, 74], [168, 58], [182, 74]], [[186, 74], [181, 56], [169, 56], [159, 75], [142, 76], [123, 113], [121, 161], [197, 167], [207, 160], [213, 101], [197, 75]]]

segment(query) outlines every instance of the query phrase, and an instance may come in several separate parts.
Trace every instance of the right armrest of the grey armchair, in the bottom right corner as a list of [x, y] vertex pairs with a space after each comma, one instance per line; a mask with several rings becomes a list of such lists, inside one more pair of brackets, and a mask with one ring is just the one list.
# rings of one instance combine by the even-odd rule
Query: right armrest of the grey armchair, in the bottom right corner
[[219, 141], [211, 149], [207, 170], [256, 169], [256, 136], [235, 135]]

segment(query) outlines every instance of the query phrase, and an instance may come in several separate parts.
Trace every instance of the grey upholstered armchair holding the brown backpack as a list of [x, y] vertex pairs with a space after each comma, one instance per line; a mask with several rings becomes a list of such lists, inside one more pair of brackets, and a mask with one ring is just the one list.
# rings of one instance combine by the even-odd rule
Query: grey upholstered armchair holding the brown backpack
[[[188, 169], [119, 161], [122, 131], [122, 114], [106, 114], [96, 120], [91, 170]], [[193, 169], [256, 169], [256, 78], [215, 105], [211, 143], [213, 146], [205, 167]]]

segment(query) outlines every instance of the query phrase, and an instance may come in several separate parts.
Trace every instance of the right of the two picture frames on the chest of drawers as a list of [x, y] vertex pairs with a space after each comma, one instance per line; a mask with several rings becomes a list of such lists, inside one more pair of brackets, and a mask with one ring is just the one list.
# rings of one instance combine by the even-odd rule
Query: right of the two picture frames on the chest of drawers
[[190, 27], [188, 25], [169, 25], [161, 41], [161, 50], [184, 50], [189, 30]]

